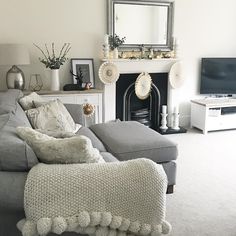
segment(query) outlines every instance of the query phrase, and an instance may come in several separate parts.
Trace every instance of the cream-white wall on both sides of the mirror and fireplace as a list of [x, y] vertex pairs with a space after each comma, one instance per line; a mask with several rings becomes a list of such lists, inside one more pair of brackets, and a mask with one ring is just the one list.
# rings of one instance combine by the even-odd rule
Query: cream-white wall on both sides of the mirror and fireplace
[[[40, 73], [48, 87], [40, 55], [32, 43], [72, 44], [70, 57], [94, 58], [96, 74], [106, 32], [106, 0], [0, 0], [0, 43], [26, 43], [32, 63], [22, 67], [29, 74]], [[175, 36], [186, 76], [177, 91], [180, 112], [187, 123], [190, 99], [199, 93], [201, 57], [236, 57], [235, 0], [175, 0]], [[0, 89], [5, 88], [5, 71], [0, 67]], [[69, 63], [63, 66], [61, 83], [70, 83]], [[186, 118], [186, 119], [185, 119]]]

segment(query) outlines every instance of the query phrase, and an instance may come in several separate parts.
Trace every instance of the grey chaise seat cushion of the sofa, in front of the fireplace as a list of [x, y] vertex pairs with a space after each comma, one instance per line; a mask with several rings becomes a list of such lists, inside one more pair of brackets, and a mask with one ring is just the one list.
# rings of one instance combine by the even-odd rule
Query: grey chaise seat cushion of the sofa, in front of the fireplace
[[177, 158], [175, 143], [138, 122], [96, 124], [90, 129], [119, 160], [146, 157], [162, 163]]

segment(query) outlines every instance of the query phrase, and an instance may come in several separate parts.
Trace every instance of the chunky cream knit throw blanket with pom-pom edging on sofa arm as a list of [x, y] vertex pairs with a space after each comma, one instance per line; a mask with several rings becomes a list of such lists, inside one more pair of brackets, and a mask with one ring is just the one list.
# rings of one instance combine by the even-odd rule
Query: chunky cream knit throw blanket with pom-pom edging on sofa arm
[[23, 236], [168, 234], [165, 221], [167, 179], [148, 159], [127, 162], [46, 165], [29, 172], [17, 226]]

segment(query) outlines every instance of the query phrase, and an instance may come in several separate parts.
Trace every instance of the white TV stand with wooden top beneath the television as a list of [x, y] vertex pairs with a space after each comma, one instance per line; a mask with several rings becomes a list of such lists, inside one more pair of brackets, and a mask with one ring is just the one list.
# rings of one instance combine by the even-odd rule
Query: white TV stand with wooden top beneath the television
[[191, 100], [191, 127], [208, 131], [236, 129], [236, 99]]

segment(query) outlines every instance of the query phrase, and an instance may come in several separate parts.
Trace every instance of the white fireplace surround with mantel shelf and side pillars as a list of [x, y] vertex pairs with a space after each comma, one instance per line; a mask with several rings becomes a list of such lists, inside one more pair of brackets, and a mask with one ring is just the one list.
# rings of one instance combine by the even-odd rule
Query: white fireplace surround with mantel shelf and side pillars
[[[172, 65], [179, 61], [176, 58], [161, 58], [161, 59], [112, 59], [103, 60], [110, 61], [116, 64], [120, 74], [134, 74], [134, 73], [169, 73]], [[167, 100], [169, 107], [172, 110], [172, 89], [168, 83]], [[104, 121], [111, 121], [116, 119], [116, 84], [104, 86]]]

